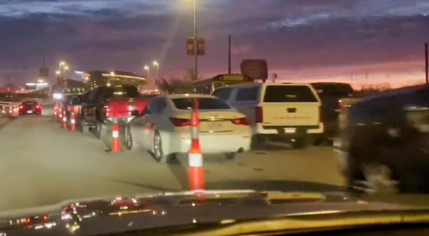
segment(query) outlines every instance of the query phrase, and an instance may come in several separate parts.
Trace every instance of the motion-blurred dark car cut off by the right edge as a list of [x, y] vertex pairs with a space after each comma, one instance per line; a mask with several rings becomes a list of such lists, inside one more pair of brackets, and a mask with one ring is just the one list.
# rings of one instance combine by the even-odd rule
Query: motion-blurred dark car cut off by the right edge
[[351, 188], [429, 192], [429, 86], [355, 103], [340, 147], [339, 164]]

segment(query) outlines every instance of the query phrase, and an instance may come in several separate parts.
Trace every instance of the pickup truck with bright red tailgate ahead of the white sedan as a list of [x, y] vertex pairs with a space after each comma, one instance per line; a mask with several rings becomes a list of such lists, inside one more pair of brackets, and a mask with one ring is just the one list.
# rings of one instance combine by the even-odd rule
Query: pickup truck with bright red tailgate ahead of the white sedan
[[82, 101], [78, 127], [82, 132], [95, 128], [100, 138], [104, 124], [118, 121], [128, 122], [133, 115], [143, 111], [150, 100], [141, 97], [132, 85], [101, 86], [88, 92]]

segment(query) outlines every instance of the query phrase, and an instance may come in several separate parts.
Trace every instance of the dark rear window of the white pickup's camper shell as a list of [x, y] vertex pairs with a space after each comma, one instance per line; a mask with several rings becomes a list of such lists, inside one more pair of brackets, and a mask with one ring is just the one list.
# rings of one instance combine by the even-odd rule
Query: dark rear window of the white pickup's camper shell
[[317, 102], [316, 97], [308, 86], [269, 85], [266, 87], [264, 103], [312, 103]]

